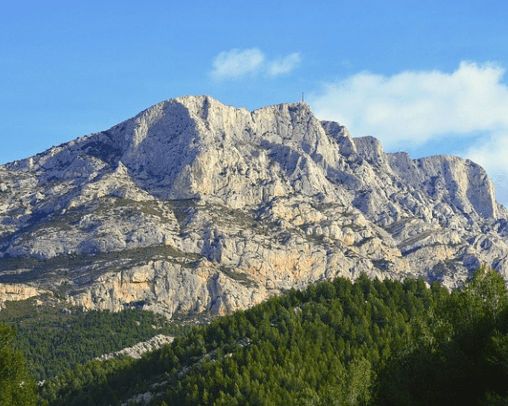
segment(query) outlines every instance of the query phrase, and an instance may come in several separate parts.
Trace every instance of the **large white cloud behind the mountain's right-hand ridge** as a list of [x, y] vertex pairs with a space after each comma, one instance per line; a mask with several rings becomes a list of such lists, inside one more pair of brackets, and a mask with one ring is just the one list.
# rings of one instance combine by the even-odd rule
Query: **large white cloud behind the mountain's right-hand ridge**
[[[504, 72], [496, 64], [474, 62], [461, 62], [452, 73], [407, 71], [387, 77], [361, 72], [326, 84], [312, 107], [320, 119], [338, 121], [354, 137], [370, 134], [387, 150], [411, 149], [445, 138], [471, 140], [481, 132], [486, 136], [475, 140], [474, 147], [462, 155], [489, 173], [506, 177], [508, 87], [501, 82]], [[496, 188], [498, 198], [508, 202], [508, 185], [497, 183]]]

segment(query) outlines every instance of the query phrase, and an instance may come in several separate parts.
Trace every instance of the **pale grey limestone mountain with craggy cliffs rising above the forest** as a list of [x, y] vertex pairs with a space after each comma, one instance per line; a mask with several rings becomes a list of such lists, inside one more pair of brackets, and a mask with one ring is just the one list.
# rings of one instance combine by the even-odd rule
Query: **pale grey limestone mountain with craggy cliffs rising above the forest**
[[0, 166], [0, 283], [167, 314], [362, 272], [453, 288], [508, 276], [507, 223], [469, 160], [384, 153], [304, 103], [186, 96]]

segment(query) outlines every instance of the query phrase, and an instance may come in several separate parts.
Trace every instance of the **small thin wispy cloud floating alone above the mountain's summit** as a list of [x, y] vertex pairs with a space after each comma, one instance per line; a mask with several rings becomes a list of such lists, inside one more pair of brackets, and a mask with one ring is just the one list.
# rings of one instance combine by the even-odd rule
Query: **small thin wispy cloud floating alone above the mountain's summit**
[[261, 74], [274, 77], [290, 73], [299, 63], [299, 53], [267, 60], [259, 48], [232, 49], [221, 52], [214, 58], [210, 75], [214, 80], [240, 79]]

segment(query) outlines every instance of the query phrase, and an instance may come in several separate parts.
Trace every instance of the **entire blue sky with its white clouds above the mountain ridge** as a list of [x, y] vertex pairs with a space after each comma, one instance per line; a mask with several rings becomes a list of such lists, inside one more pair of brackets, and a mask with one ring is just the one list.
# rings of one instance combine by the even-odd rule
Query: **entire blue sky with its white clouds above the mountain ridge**
[[0, 163], [209, 94], [298, 101], [413, 158], [484, 166], [508, 207], [508, 3], [8, 2]]

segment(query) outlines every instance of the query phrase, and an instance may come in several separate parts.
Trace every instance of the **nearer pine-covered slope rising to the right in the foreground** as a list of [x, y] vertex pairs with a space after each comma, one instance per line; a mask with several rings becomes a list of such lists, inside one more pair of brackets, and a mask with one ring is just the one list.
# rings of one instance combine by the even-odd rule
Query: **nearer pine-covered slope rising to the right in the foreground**
[[[146, 402], [132, 397], [145, 392]], [[38, 392], [41, 405], [128, 401], [508, 404], [506, 286], [485, 267], [452, 293], [421, 280], [321, 282], [217, 318], [141, 360], [78, 364]]]

